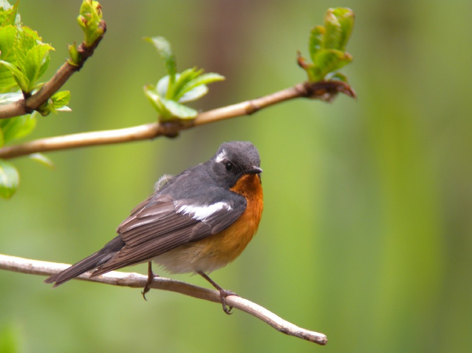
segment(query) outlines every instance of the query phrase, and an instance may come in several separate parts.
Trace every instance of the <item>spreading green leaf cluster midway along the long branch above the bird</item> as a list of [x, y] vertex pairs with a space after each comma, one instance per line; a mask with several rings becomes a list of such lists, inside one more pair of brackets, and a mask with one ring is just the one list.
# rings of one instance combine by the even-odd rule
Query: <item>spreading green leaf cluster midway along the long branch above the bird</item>
[[204, 73], [203, 69], [196, 67], [177, 73], [175, 57], [167, 40], [163, 37], [145, 39], [155, 46], [167, 71], [167, 75], [156, 85], [148, 84], [144, 87], [146, 97], [159, 114], [159, 119], [166, 121], [195, 118], [198, 112], [182, 103], [204, 96], [208, 92], [207, 84], [222, 81], [225, 77], [214, 72]]

